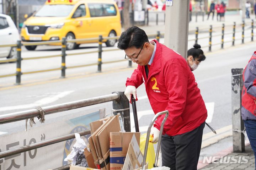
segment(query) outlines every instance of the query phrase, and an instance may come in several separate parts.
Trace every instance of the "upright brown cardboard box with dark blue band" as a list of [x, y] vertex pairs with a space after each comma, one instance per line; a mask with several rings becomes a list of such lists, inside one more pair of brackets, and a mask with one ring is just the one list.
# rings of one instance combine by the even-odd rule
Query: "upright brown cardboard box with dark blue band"
[[135, 135], [140, 143], [140, 132], [111, 132], [110, 133], [110, 170], [121, 170], [128, 151], [129, 144]]

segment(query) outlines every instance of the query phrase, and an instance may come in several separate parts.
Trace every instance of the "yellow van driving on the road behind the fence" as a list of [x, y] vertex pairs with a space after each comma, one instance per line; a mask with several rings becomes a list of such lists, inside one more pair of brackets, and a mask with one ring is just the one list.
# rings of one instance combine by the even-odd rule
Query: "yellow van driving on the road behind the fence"
[[[28, 18], [21, 29], [23, 42], [81, 38], [113, 37], [121, 35], [120, 13], [113, 0], [47, 0]], [[91, 41], [94, 43], [97, 41]], [[116, 39], [103, 40], [114, 46]], [[60, 44], [55, 44], [60, 45]], [[68, 50], [78, 43], [67, 43]], [[25, 46], [28, 50], [34, 46]]]

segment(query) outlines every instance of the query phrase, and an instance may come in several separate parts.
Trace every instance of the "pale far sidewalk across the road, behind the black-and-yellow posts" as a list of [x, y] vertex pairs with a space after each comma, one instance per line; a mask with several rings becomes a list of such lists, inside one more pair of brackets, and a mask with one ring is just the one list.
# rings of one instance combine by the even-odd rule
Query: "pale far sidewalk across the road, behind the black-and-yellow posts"
[[[245, 18], [245, 26], [251, 26], [251, 20], [254, 20], [254, 23], [256, 24], [255, 15], [251, 15], [251, 18]], [[194, 34], [196, 27], [199, 28], [199, 32], [204, 29], [205, 31], [209, 30], [210, 25], [213, 26], [213, 29], [216, 27], [221, 28], [222, 24], [224, 23], [225, 26], [233, 27], [234, 22], [236, 22], [236, 26], [241, 26], [242, 24], [242, 17], [239, 14], [230, 14], [225, 15], [225, 21], [217, 21], [216, 14], [214, 16], [214, 20], [212, 20], [212, 15], [210, 15], [209, 20], [207, 20], [207, 15], [204, 16], [204, 21], [202, 21], [203, 17], [198, 16], [197, 22], [196, 22], [196, 16], [192, 16], [191, 22], [189, 22], [188, 25], [188, 32], [189, 34]], [[158, 25], [156, 25], [156, 22], [149, 22], [148, 26], [138, 26], [141, 29], [143, 29], [146, 34], [156, 34], [157, 31], [160, 31], [160, 33], [165, 32], [165, 24], [164, 22], [158, 22]]]

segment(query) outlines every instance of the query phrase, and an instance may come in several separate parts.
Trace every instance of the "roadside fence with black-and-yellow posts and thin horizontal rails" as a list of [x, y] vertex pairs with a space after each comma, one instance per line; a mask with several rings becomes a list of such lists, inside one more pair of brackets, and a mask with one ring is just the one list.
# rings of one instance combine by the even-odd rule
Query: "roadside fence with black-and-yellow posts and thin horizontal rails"
[[[248, 24], [248, 23], [247, 23]], [[225, 33], [225, 27], [230, 27], [233, 26], [233, 31], [230, 31], [228, 33]], [[194, 30], [195, 32], [195, 38], [194, 39], [190, 39], [188, 41], [194, 41], [195, 43], [198, 43], [199, 39], [206, 39], [209, 38], [209, 43], [208, 45], [205, 46], [201, 46], [201, 48], [208, 48], [208, 51], [211, 52], [212, 51], [212, 46], [213, 45], [221, 45], [221, 49], [224, 48], [224, 43], [230, 43], [232, 42], [232, 46], [235, 45], [235, 40], [241, 40], [241, 43], [244, 43], [244, 39], [245, 38], [251, 38], [251, 41], [254, 41], [254, 20], [251, 20], [251, 35], [250, 36], [245, 36], [244, 32], [245, 32], [245, 22], [243, 22], [241, 24], [241, 30], [239, 30], [240, 32], [242, 32], [242, 36], [241, 39], [240, 38], [236, 38], [235, 39], [235, 33], [238, 33], [239, 31], [236, 30], [236, 23], [234, 22], [233, 25], [222, 25], [221, 27], [214, 27], [214, 29], [217, 28], [221, 28], [222, 32], [221, 34], [212, 34], [213, 33], [213, 26], [211, 25], [210, 28], [208, 29], [209, 32], [209, 36], [205, 36], [205, 37], [198, 37], [199, 35], [199, 28], [196, 27], [196, 30]], [[204, 29], [201, 29], [200, 31], [202, 32]], [[193, 30], [190, 30], [193, 31]], [[232, 34], [232, 40], [231, 41], [224, 41], [224, 35], [229, 35]], [[163, 37], [164, 33], [160, 33], [159, 31], [156, 34], [148, 34], [148, 37], [150, 38], [156, 38], [156, 40], [159, 41], [160, 37]], [[221, 41], [219, 43], [215, 43], [212, 44], [212, 38], [213, 37], [219, 37], [221, 36]], [[62, 40], [57, 40], [57, 41], [44, 41], [44, 42], [22, 42], [18, 41], [17, 44], [10, 44], [10, 45], [0, 45], [1, 47], [6, 47], [6, 46], [17, 46], [17, 59], [7, 59], [7, 60], [3, 60], [0, 61], [0, 63], [5, 63], [5, 62], [17, 62], [16, 65], [16, 73], [12, 73], [12, 74], [8, 74], [8, 75], [0, 75], [0, 78], [2, 77], [10, 77], [10, 76], [16, 76], [16, 85], [21, 83], [21, 75], [25, 75], [25, 74], [32, 74], [32, 73], [39, 73], [39, 72], [48, 72], [48, 71], [56, 71], [56, 70], [61, 70], [61, 77], [65, 78], [66, 76], [66, 69], [68, 68], [78, 68], [78, 67], [87, 67], [87, 66], [93, 66], [93, 65], [97, 65], [97, 71], [101, 72], [101, 65], [102, 64], [109, 64], [109, 63], [114, 63], [114, 62], [122, 62], [122, 61], [126, 61], [126, 60], [116, 60], [116, 61], [108, 61], [108, 62], [102, 62], [102, 52], [106, 52], [106, 51], [116, 51], [119, 49], [102, 49], [102, 43], [105, 42], [106, 40], [109, 39], [118, 39], [119, 37], [102, 37], [101, 35], [99, 36], [99, 38], [87, 38], [87, 39], [72, 39], [72, 40], [66, 40], [66, 38], [63, 38]], [[81, 53], [71, 53], [71, 54], [66, 54], [66, 43], [78, 43], [78, 42], [82, 42], [82, 43], [86, 43], [86, 42], [92, 42], [92, 41], [98, 41], [98, 50], [94, 50], [94, 51], [87, 51], [87, 52], [81, 52]], [[62, 43], [62, 54], [59, 55], [48, 55], [48, 56], [38, 56], [38, 57], [30, 57], [30, 58], [21, 58], [21, 46], [22, 45], [51, 45], [51, 44], [56, 44], [56, 43]], [[76, 65], [76, 66], [66, 66], [66, 56], [73, 56], [73, 55], [81, 55], [81, 54], [91, 54], [91, 53], [98, 53], [98, 61], [97, 63], [91, 63], [91, 64], [84, 64], [84, 65]], [[47, 69], [47, 70], [35, 70], [35, 71], [29, 71], [29, 72], [21, 72], [21, 61], [22, 60], [34, 60], [34, 59], [46, 59], [46, 58], [50, 58], [50, 57], [62, 57], [62, 63], [61, 66], [58, 68], [51, 68], [51, 69]], [[132, 61], [128, 62], [128, 67], [132, 67]]]

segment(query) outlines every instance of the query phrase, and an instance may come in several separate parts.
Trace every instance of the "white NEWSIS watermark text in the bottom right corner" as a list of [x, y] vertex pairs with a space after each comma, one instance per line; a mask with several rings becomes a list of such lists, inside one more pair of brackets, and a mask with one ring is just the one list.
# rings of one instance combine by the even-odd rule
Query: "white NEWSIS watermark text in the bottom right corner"
[[248, 163], [249, 157], [204, 157], [203, 164], [246, 164]]

